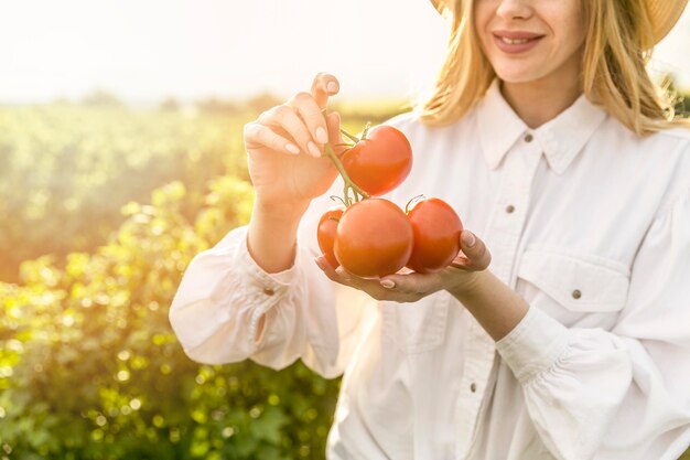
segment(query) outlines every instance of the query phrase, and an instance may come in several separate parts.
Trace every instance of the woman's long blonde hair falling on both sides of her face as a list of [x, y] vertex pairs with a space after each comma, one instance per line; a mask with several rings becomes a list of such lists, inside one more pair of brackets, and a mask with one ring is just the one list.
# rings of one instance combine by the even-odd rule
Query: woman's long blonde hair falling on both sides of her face
[[[474, 28], [474, 1], [439, 0], [452, 21], [445, 63], [431, 95], [417, 104], [420, 119], [432, 126], [450, 125], [484, 96], [496, 77], [482, 52]], [[583, 1], [586, 39], [582, 89], [594, 104], [637, 135], [675, 126], [690, 127], [676, 116], [677, 99], [647, 72], [655, 40], [642, 0]]]

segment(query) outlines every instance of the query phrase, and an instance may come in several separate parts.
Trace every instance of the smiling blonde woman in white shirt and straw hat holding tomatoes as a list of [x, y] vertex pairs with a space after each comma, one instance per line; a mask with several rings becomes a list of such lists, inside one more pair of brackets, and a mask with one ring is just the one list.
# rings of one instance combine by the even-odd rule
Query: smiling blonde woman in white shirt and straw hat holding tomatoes
[[389, 197], [441, 197], [482, 236], [464, 231], [440, 274], [360, 279], [320, 257], [334, 76], [262, 114], [245, 130], [251, 222], [194, 259], [172, 306], [186, 353], [343, 374], [328, 459], [676, 459], [690, 131], [645, 60], [684, 2], [436, 4], [448, 61], [389, 121], [416, 154]]

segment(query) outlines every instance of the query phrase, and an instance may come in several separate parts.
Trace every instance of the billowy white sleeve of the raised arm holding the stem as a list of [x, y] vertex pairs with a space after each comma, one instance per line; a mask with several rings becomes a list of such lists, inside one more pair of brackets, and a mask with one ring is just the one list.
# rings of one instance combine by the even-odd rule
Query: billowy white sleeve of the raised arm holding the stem
[[251, 359], [283, 368], [302, 361], [324, 377], [343, 373], [367, 324], [371, 301], [319, 269], [314, 203], [298, 234], [293, 267], [267, 274], [247, 249], [247, 228], [230, 232], [187, 267], [170, 321], [193, 360], [223, 364]]

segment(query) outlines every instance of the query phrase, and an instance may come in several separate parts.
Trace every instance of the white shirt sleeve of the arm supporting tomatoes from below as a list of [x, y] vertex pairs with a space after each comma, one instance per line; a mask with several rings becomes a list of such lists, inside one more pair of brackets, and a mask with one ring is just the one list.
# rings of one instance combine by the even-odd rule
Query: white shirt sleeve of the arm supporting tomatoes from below
[[496, 346], [558, 459], [677, 459], [690, 445], [689, 194], [650, 226], [611, 331], [530, 308]]

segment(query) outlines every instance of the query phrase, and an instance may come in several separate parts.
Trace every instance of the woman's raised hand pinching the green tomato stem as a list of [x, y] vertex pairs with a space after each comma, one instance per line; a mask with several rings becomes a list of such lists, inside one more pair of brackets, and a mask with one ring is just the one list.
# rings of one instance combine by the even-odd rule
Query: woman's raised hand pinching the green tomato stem
[[337, 113], [324, 117], [323, 110], [338, 88], [333, 75], [321, 73], [309, 93], [297, 94], [245, 126], [249, 175], [263, 206], [309, 203], [335, 180], [337, 171], [323, 151], [328, 142], [342, 143], [341, 119]]

